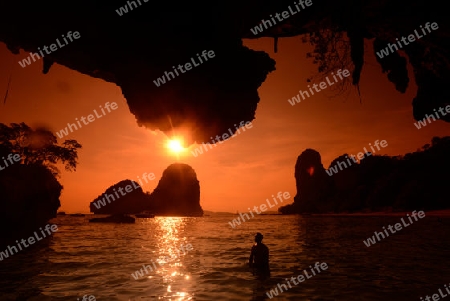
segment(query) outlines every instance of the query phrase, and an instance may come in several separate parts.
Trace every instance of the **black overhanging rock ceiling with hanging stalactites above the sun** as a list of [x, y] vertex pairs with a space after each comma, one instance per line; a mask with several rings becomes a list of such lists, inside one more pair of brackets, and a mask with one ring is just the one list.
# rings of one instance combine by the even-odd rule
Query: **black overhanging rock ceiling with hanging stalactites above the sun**
[[[379, 70], [401, 93], [413, 75], [417, 94], [412, 113], [416, 120], [448, 105], [450, 99], [450, 19], [439, 13], [447, 11], [445, 1], [311, 1], [311, 7], [283, 17], [282, 22], [269, 16], [293, 8], [292, 0], [190, 2], [179, 11], [173, 7], [183, 7], [185, 1], [140, 1], [142, 5], [133, 11], [127, 6], [132, 1], [127, 2], [2, 1], [5, 14], [0, 18], [0, 41], [12, 53], [20, 54], [17, 60], [28, 58], [33, 63], [28, 52], [37, 52], [44, 41], [49, 45], [56, 38], [61, 40], [69, 30], [78, 32], [79, 39], [36, 61], [42, 64], [44, 74], [57, 63], [113, 82], [121, 88], [139, 125], [168, 135], [187, 127], [193, 141], [199, 143], [211, 142], [211, 136], [228, 129], [234, 131], [233, 125], [242, 120], [253, 120], [258, 88], [275, 70], [275, 61], [267, 53], [246, 48], [243, 39], [274, 38], [276, 52], [279, 39], [296, 36], [314, 47], [308, 56], [320, 75], [328, 75], [337, 66], [348, 67], [354, 85], [360, 82], [368, 56], [377, 59]], [[124, 8], [128, 11], [125, 15], [120, 12]], [[266, 23], [262, 26], [263, 19], [268, 27]], [[11, 26], [18, 20], [20, 24]], [[389, 50], [388, 43], [395, 44], [396, 39], [400, 43], [401, 37], [420, 31], [419, 26], [426, 22], [436, 22], [439, 29], [383, 56], [381, 51]], [[204, 50], [214, 51], [215, 56], [201, 67], [162, 86], [152, 82], [173, 72], [174, 63], [196, 59]], [[280, 52], [287, 53], [285, 49]], [[298, 68], [309, 64], [306, 59], [293, 63]], [[440, 120], [450, 122], [450, 115]]]

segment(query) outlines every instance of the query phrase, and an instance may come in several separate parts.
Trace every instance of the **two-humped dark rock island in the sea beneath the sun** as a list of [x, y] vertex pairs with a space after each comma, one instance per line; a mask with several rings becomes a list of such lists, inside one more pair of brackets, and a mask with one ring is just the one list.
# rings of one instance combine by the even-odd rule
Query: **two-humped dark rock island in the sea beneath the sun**
[[191, 166], [182, 163], [167, 167], [151, 194], [144, 193], [137, 182], [123, 180], [106, 189], [89, 208], [94, 214], [150, 211], [160, 216], [203, 216], [197, 175]]

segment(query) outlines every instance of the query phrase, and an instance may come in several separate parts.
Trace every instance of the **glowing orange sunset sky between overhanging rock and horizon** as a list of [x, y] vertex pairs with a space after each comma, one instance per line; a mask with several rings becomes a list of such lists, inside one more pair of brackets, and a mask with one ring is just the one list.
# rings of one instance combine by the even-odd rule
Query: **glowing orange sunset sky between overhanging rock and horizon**
[[[151, 192], [164, 169], [174, 162], [187, 163], [195, 169], [204, 210], [244, 211], [264, 203], [279, 191], [290, 193], [291, 199], [283, 203], [287, 204], [296, 194], [295, 162], [306, 148], [319, 151], [324, 167], [328, 168], [337, 156], [346, 152], [356, 155], [375, 140], [388, 142], [376, 154], [399, 155], [417, 150], [433, 136], [450, 134], [449, 125], [442, 121], [420, 130], [414, 126], [411, 101], [416, 86], [412, 70], [409, 69], [407, 92], [395, 91], [381, 73], [372, 49], [366, 52], [361, 78], [362, 103], [352, 87], [350, 93], [339, 97], [330, 98], [335, 93], [324, 90], [291, 106], [287, 100], [299, 90], [306, 90], [306, 78], [317, 70], [312, 60], [306, 59], [310, 46], [299, 37], [280, 39], [278, 53], [274, 53], [272, 39], [244, 43], [266, 51], [276, 60], [277, 70], [259, 88], [261, 99], [253, 127], [198, 157], [190, 152], [197, 146], [193, 145], [177, 158], [165, 147], [168, 137], [164, 133], [139, 127], [115, 84], [57, 64], [44, 75], [42, 61], [22, 68], [18, 61], [28, 53], [13, 55], [3, 43], [0, 43], [2, 99], [11, 73], [12, 82], [6, 104], [0, 103], [0, 122], [25, 122], [56, 132], [108, 101], [118, 104], [115, 111], [66, 137], [83, 145], [77, 171], [71, 173], [61, 168], [59, 181], [64, 189], [60, 210], [69, 213], [89, 212], [89, 202], [106, 188], [124, 179], [137, 181], [144, 173], [156, 176], [143, 185], [144, 191]], [[149, 84], [152, 80], [149, 79]]]

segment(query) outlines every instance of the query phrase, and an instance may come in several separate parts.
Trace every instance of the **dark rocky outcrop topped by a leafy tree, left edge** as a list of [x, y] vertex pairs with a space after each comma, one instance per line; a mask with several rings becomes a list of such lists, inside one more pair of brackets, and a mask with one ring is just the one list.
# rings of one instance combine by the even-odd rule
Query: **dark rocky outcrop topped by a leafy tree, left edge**
[[0, 246], [29, 235], [56, 217], [63, 188], [56, 179], [56, 164], [62, 163], [66, 170], [74, 171], [79, 148], [81, 145], [75, 140], [58, 145], [56, 137], [44, 128], [0, 123], [0, 157], [21, 157], [20, 162], [0, 172]]

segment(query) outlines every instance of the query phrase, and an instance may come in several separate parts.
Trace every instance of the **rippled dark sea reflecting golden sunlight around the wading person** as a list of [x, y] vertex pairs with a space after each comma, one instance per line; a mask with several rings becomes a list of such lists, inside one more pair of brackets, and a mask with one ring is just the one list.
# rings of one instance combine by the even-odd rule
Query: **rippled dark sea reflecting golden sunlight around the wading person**
[[[58, 217], [51, 240], [0, 261], [0, 300], [271, 300], [266, 291], [315, 262], [328, 269], [273, 300], [420, 301], [450, 283], [447, 218], [426, 216], [366, 247], [363, 240], [400, 217], [257, 216], [232, 229], [235, 217], [131, 225]], [[255, 232], [270, 249], [268, 280], [247, 267]], [[182, 244], [193, 250], [179, 255]], [[165, 256], [173, 260], [160, 265]], [[156, 270], [131, 276], [152, 261]]]

